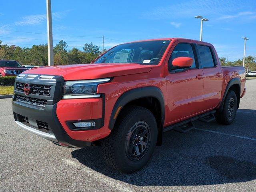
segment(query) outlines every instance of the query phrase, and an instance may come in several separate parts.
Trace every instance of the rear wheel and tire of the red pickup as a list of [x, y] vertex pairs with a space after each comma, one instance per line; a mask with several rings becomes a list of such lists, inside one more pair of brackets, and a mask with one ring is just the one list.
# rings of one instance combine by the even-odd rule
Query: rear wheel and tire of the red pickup
[[222, 112], [216, 112], [216, 121], [220, 124], [229, 125], [236, 117], [237, 97], [236, 93], [230, 90], [224, 100]]

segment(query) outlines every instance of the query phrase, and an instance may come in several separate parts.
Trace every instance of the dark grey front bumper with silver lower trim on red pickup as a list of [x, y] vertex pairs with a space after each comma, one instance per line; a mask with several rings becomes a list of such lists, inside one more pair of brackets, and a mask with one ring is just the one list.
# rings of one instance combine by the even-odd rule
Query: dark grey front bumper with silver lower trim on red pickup
[[[36, 105], [15, 101], [14, 98], [12, 98], [14, 119], [16, 124], [18, 124], [18, 126], [21, 128], [51, 140], [57, 144], [62, 143], [67, 146], [79, 148], [90, 146], [91, 142], [73, 139], [66, 133], [58, 120], [56, 108], [57, 103], [53, 105], [46, 105], [44, 108], [42, 108]], [[44, 129], [38, 128], [38, 122], [41, 124], [42, 122], [45, 124], [47, 123], [47, 132], [42, 131]]]

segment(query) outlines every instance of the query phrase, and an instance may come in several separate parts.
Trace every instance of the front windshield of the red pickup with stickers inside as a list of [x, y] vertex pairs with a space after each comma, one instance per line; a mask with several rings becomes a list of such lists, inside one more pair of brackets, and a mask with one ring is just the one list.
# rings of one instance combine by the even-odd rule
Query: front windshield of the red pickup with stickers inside
[[94, 63], [157, 65], [169, 43], [169, 40], [156, 40], [121, 44], [100, 56]]

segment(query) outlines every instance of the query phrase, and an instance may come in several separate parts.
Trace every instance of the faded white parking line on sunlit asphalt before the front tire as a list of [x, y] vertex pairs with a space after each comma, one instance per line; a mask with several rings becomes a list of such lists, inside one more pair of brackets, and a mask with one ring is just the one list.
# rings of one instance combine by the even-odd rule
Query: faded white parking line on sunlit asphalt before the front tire
[[75, 162], [70, 159], [62, 159], [61, 161], [69, 166], [73, 166], [75, 168], [80, 169], [80, 171], [83, 171], [83, 172], [89, 174], [90, 176], [94, 177], [96, 180], [100, 180], [100, 181], [104, 182], [106, 185], [108, 185], [109, 187], [114, 188], [118, 191], [122, 191], [122, 192], [132, 192], [133, 191], [132, 189], [120, 184], [117, 180], [110, 178], [104, 174], [100, 174], [99, 172], [85, 166], [84, 164], [82, 164], [80, 162]]

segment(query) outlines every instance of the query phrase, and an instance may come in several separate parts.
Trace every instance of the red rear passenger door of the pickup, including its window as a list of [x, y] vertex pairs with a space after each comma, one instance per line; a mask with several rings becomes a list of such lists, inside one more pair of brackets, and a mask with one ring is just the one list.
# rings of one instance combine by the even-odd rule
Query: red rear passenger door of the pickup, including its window
[[201, 66], [204, 73], [204, 110], [215, 108], [220, 102], [222, 89], [222, 68], [218, 64], [216, 54], [211, 46], [197, 45]]

